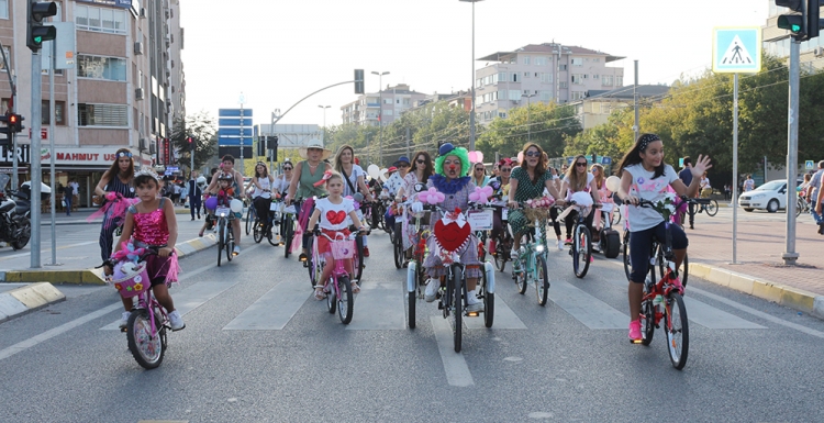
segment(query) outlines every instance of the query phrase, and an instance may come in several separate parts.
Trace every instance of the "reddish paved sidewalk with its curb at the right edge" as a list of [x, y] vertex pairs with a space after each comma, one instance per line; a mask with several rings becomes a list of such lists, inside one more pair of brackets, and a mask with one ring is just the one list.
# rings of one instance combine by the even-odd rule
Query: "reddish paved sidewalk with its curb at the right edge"
[[[732, 264], [732, 209], [698, 214], [690, 241], [690, 275], [824, 319], [824, 236], [809, 215], [797, 220], [795, 266], [786, 266], [786, 214], [738, 209], [736, 264]], [[778, 221], [778, 220], [781, 221]]]

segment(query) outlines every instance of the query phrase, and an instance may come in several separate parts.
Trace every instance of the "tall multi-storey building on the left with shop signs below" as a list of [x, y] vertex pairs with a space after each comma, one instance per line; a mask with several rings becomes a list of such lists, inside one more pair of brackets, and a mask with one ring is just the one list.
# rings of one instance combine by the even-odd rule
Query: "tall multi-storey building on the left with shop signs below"
[[[32, 159], [44, 159], [43, 180], [51, 175], [46, 157], [54, 155], [56, 180], [80, 185], [80, 207], [91, 204], [93, 188], [114, 160], [118, 148], [132, 151], [136, 165], [163, 164], [174, 152], [166, 138], [172, 118], [185, 113], [185, 79], [180, 49], [179, 0], [55, 1], [54, 21], [73, 22], [74, 68], [55, 71], [55, 131], [48, 125], [48, 71], [42, 75], [43, 146], [54, 138], [55, 152], [30, 155], [30, 141], [18, 137], [21, 181], [29, 179]], [[0, 0], [0, 43], [16, 77], [18, 113], [31, 115], [31, 52], [25, 45], [25, 1]], [[8, 69], [2, 69], [8, 70]], [[2, 112], [11, 89], [0, 73]], [[31, 127], [31, 120], [23, 122]], [[25, 133], [25, 131], [24, 131]], [[11, 171], [12, 152], [0, 153], [0, 171]]]

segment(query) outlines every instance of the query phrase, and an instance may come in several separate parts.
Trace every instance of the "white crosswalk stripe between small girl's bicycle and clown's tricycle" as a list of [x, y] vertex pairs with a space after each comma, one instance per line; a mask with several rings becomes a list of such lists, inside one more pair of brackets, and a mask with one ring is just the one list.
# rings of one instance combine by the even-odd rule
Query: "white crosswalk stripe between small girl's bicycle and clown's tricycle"
[[355, 308], [348, 331], [403, 331], [404, 294], [398, 281], [367, 281], [355, 296]]

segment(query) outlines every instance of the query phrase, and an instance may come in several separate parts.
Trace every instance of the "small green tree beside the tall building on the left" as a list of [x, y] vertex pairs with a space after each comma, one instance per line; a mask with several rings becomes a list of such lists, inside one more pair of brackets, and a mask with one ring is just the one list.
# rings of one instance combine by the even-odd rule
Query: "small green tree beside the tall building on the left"
[[186, 119], [175, 119], [169, 140], [175, 151], [179, 152], [175, 164], [186, 168], [191, 165], [189, 136], [194, 140], [194, 168], [198, 169], [218, 154], [218, 129], [214, 118], [201, 111]]

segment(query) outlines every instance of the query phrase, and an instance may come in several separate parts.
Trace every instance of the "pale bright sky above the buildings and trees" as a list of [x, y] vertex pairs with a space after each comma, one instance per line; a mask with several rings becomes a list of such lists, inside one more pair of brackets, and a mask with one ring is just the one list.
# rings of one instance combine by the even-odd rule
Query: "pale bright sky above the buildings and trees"
[[[711, 66], [712, 30], [762, 26], [771, 0], [482, 0], [475, 3], [475, 57], [548, 42], [625, 57], [624, 85], [669, 85]], [[326, 86], [365, 69], [387, 85], [448, 93], [474, 82], [472, 3], [458, 0], [180, 0], [186, 109], [253, 109], [269, 123]], [[475, 68], [486, 63], [476, 62]], [[279, 123], [341, 124], [354, 85], [321, 91]]]

